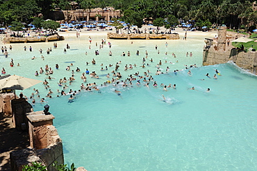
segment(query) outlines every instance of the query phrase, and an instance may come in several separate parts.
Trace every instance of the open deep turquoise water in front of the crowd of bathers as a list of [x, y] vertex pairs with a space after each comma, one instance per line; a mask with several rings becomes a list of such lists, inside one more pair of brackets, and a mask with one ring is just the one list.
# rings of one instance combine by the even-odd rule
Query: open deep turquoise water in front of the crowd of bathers
[[[217, 80], [205, 76], [213, 69], [222, 71]], [[81, 93], [73, 103], [49, 100], [65, 161], [87, 170], [256, 170], [255, 76], [220, 64], [154, 79], [177, 88], [133, 82]]]

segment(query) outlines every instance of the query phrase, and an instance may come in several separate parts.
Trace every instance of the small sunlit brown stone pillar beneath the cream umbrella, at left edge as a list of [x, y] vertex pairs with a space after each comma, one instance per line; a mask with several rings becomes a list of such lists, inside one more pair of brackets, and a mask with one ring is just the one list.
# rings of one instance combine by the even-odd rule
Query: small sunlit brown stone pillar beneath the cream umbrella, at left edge
[[15, 98], [15, 93], [1, 93], [0, 94], [0, 112], [6, 116], [12, 116], [13, 111], [10, 106], [10, 101]]

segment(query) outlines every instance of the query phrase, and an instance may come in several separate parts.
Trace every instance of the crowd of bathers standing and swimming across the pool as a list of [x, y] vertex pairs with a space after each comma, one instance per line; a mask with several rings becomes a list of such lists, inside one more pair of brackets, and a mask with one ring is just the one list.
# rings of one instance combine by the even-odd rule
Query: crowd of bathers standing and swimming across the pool
[[[89, 44], [92, 44], [92, 37], [89, 37]], [[131, 44], [133, 44], [133, 42], [131, 42]], [[101, 43], [100, 43], [100, 48], [103, 48], [103, 46], [106, 45], [106, 39], [101, 39]], [[96, 42], [96, 46], [97, 42]], [[165, 42], [165, 47], [168, 46], [168, 43]], [[54, 42], [53, 43], [53, 49], [57, 48], [57, 43]], [[67, 49], [69, 49], [70, 46], [69, 44], [66, 45], [66, 48], [64, 53], [67, 52]], [[108, 42], [108, 48], [111, 48], [111, 43]], [[156, 49], [156, 54], [160, 54], [160, 51], [158, 50], [158, 46], [156, 45], [154, 47]], [[33, 51], [33, 48], [31, 46], [29, 46], [29, 51]], [[26, 51], [27, 48], [26, 46], [24, 46], [24, 51]], [[10, 51], [12, 51], [12, 46], [10, 46]], [[49, 53], [52, 51], [51, 47], [47, 48], [47, 55], [49, 55]], [[7, 48], [2, 47], [2, 53], [7, 52]], [[42, 48], [40, 48], [39, 50], [40, 54], [43, 53]], [[88, 53], [86, 52], [85, 55], [88, 55]], [[99, 51], [95, 51], [95, 55], [99, 55]], [[108, 54], [109, 56], [112, 56], [113, 53], [112, 51], [109, 51]], [[140, 55], [140, 51], [135, 51], [135, 55]], [[76, 94], [77, 93], [81, 93], [82, 91], [86, 91], [86, 92], [92, 92], [92, 91], [96, 91], [98, 93], [101, 93], [101, 88], [103, 87], [107, 87], [107, 86], [112, 86], [115, 87], [115, 93], [117, 93], [118, 96], [121, 96], [122, 92], [118, 91], [117, 89], [119, 89], [119, 87], [147, 87], [147, 89], [150, 89], [151, 87], [154, 88], [160, 88], [163, 89], [163, 91], [168, 91], [169, 89], [176, 89], [176, 84], [163, 84], [161, 82], [156, 82], [156, 80], [154, 80], [154, 75], [161, 75], [161, 74], [167, 74], [167, 73], [174, 73], [174, 75], [176, 75], [179, 71], [181, 71], [181, 69], [176, 69], [174, 71], [170, 71], [169, 66], [165, 67], [165, 71], [163, 69], [161, 69], [161, 67], [166, 64], [172, 64], [172, 62], [168, 62], [167, 60], [159, 60], [158, 63], [156, 65], [154, 65], [154, 60], [153, 58], [149, 59], [148, 58], [148, 51], [145, 51], [145, 55], [144, 57], [142, 57], [142, 63], [140, 64], [124, 64], [124, 71], [131, 71], [131, 74], [128, 75], [122, 75], [122, 73], [120, 72], [122, 69], [120, 68], [122, 61], [119, 60], [117, 61], [115, 64], [100, 64], [100, 69], [99, 71], [110, 71], [110, 73], [107, 73], [106, 75], [101, 75], [99, 76], [99, 74], [97, 74], [98, 71], [89, 71], [88, 69], [85, 69], [85, 71], [81, 71], [81, 69], [79, 69], [79, 67], [76, 67], [76, 69], [72, 69], [74, 64], [70, 63], [67, 67], [66, 67], [66, 71], [71, 72], [71, 75], [66, 78], [53, 78], [51, 77], [51, 75], [53, 75], [54, 70], [52, 68], [55, 68], [56, 70], [59, 69], [59, 64], [56, 64], [55, 67], [51, 67], [48, 64], [45, 66], [40, 67], [39, 72], [35, 71], [35, 76], [38, 75], [47, 75], [46, 78], [44, 78], [43, 81], [43, 86], [44, 89], [49, 90], [48, 93], [46, 95], [41, 95], [40, 91], [38, 89], [33, 89], [33, 92], [31, 93], [30, 96], [25, 96], [25, 98], [27, 99], [31, 99], [31, 102], [33, 104], [35, 104], [36, 102], [44, 102], [46, 98], [53, 98], [53, 97], [60, 97], [60, 96], [69, 96], [69, 102], [73, 102], [74, 98], [76, 98]], [[164, 53], [164, 55], [167, 55], [167, 52]], [[130, 57], [131, 56], [131, 52], [128, 51], [127, 53], [122, 52], [121, 53], [122, 57]], [[192, 57], [192, 52], [186, 52], [185, 53], [186, 57]], [[179, 60], [177, 60], [176, 58], [176, 54], [172, 53], [172, 57], [174, 57], [174, 59], [176, 60], [176, 62], [179, 62]], [[34, 60], [36, 57], [32, 57], [31, 60]], [[42, 55], [42, 60], [44, 60], [44, 56]], [[149, 61], [149, 62], [147, 62]], [[94, 58], [92, 58], [92, 65], [93, 66], [97, 66], [98, 62], [97, 60], [95, 60]], [[90, 64], [90, 62], [85, 62], [86, 66], [88, 66], [88, 64]], [[14, 66], [14, 62], [13, 59], [10, 62], [10, 66]], [[138, 67], [142, 67], [142, 69], [144, 69], [146, 66], [155, 66], [156, 68], [156, 73], [151, 73], [151, 71], [149, 71], [149, 69], [146, 69], [146, 71], [140, 73], [140, 71], [135, 71]], [[188, 75], [192, 76], [192, 73], [190, 71], [190, 69], [197, 67], [196, 64], [191, 64], [190, 66], [185, 65], [186, 70], [188, 70]], [[97, 70], [97, 67], [95, 67], [95, 69]], [[184, 70], [182, 69], [182, 70]], [[135, 71], [135, 72], [133, 72]], [[2, 74], [6, 74], [6, 70], [3, 68], [1, 71]], [[76, 74], [75, 74], [76, 73]], [[76, 78], [75, 75], [78, 75], [77, 73], [81, 73], [81, 77]], [[218, 71], [216, 71], [216, 74], [218, 74]], [[217, 79], [217, 75], [214, 75], [213, 78]], [[210, 78], [210, 76], [208, 75], [208, 73], [206, 74], [206, 76], [208, 78]], [[88, 77], [90, 78], [94, 78], [94, 79], [99, 79], [99, 78], [106, 78], [106, 82], [102, 82], [101, 84], [97, 84], [96, 82], [88, 82]], [[56, 92], [51, 90], [51, 87], [53, 87], [53, 83], [49, 84], [49, 81], [47, 80], [58, 80], [58, 82], [56, 82], [58, 84], [59, 89], [57, 89]], [[92, 79], [90, 79], [92, 80]], [[204, 79], [203, 79], [204, 80]], [[70, 87], [72, 87], [73, 82], [75, 81], [81, 81], [81, 86], [80, 87], [76, 87], [74, 89], [71, 89]], [[69, 91], [67, 91], [69, 89]], [[192, 90], [195, 90], [194, 87], [192, 87]], [[206, 90], [207, 92], [210, 91], [210, 89], [208, 88]], [[41, 95], [41, 96], [40, 96]], [[164, 97], [164, 96], [163, 96]]]

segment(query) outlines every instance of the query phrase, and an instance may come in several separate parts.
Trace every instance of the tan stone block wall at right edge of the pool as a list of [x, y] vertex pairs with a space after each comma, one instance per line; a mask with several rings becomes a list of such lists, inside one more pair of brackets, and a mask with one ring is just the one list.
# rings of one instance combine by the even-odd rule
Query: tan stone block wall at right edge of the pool
[[256, 51], [248, 51], [245, 53], [244, 51], [240, 51], [236, 48], [230, 48], [227, 51], [216, 51], [215, 46], [204, 49], [203, 65], [224, 64], [229, 61], [233, 61], [242, 69], [257, 75]]

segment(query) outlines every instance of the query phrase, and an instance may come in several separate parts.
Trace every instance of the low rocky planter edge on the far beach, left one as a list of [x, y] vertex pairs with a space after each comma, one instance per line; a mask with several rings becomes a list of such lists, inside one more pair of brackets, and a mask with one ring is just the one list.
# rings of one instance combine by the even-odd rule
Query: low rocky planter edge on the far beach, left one
[[49, 41], [58, 41], [64, 40], [63, 36], [58, 34], [50, 36], [38, 36], [38, 37], [5, 37], [3, 42], [6, 44], [10, 43], [28, 43], [28, 42], [49, 42]]

